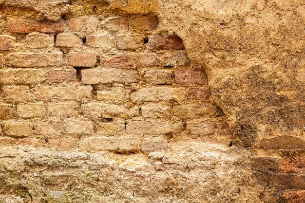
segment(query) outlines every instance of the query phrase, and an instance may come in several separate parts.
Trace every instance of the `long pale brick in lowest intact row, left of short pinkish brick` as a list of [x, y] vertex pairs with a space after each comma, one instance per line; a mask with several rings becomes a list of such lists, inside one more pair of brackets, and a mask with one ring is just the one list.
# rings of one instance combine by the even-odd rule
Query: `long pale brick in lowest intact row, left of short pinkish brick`
[[88, 137], [80, 139], [79, 148], [86, 151], [129, 153], [139, 151], [139, 142], [138, 138]]

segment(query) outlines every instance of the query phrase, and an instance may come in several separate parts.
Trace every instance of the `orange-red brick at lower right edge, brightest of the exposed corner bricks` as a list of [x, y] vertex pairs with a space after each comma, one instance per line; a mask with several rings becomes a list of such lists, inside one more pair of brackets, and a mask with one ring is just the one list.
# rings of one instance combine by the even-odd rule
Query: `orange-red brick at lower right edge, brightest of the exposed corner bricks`
[[305, 173], [305, 158], [289, 157], [281, 160], [281, 170], [285, 173]]

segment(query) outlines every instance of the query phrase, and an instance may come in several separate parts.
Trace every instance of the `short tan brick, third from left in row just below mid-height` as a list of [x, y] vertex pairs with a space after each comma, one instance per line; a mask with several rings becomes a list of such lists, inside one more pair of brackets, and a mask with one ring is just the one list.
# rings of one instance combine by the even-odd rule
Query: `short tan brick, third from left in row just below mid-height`
[[48, 106], [48, 115], [55, 117], [73, 117], [78, 114], [77, 103], [55, 103]]

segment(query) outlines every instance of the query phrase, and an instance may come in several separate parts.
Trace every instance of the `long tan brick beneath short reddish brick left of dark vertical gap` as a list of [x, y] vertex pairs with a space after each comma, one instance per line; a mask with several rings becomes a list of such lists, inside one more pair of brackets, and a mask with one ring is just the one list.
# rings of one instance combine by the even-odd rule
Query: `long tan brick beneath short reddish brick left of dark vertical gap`
[[53, 87], [40, 86], [35, 88], [36, 98], [39, 101], [46, 101], [50, 99], [59, 100], [91, 100], [92, 87]]

